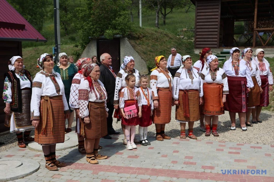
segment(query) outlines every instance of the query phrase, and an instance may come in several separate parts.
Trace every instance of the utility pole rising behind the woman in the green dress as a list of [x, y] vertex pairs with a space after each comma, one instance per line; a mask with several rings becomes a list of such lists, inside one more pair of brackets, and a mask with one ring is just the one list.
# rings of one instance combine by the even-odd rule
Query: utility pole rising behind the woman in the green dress
[[60, 17], [59, 17], [59, 0], [53, 0], [54, 2], [54, 34], [55, 34], [55, 60], [57, 63], [58, 54], [61, 52], [61, 38], [60, 38]]

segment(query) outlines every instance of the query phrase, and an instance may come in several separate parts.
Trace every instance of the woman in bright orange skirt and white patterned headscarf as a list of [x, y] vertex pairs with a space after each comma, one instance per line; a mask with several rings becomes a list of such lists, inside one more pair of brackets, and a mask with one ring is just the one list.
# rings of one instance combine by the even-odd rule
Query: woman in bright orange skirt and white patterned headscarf
[[206, 60], [209, 67], [204, 69], [200, 75], [204, 82], [204, 105], [202, 112], [205, 115], [205, 136], [210, 136], [210, 126], [212, 126], [213, 136], [219, 136], [217, 132], [218, 115], [224, 114], [226, 94], [229, 93], [227, 76], [224, 70], [218, 67], [219, 60], [217, 56], [209, 55]]

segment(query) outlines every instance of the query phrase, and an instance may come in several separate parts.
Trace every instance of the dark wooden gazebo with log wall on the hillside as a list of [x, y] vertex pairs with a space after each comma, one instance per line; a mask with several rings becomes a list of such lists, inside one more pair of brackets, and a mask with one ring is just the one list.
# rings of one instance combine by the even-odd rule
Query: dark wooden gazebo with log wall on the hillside
[[[242, 35], [246, 37], [248, 43], [252, 43], [253, 47], [258, 46], [256, 37], [260, 40], [260, 47], [267, 47], [270, 40], [274, 39], [274, 1], [191, 1], [196, 6], [194, 48], [235, 46], [235, 21], [250, 21], [251, 29], [248, 32], [242, 32]], [[258, 23], [260, 23], [259, 26]], [[259, 32], [267, 32], [269, 35], [267, 40], [263, 40]]]

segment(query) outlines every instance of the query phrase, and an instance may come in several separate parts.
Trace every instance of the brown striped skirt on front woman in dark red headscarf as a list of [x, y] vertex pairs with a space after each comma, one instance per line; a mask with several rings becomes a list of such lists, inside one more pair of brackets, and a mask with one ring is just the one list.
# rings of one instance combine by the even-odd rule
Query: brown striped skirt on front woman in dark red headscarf
[[86, 139], [96, 139], [107, 135], [107, 112], [104, 102], [89, 102], [89, 124], [82, 119], [80, 133], [84, 129]]

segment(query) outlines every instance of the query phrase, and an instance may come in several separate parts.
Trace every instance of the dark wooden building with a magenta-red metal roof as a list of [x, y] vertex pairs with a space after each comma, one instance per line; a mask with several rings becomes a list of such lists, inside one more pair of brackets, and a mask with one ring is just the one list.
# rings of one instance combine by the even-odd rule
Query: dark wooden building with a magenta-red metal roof
[[6, 0], [0, 0], [0, 132], [8, 130], [4, 127], [5, 104], [2, 100], [4, 73], [8, 71], [8, 60], [12, 56], [22, 57], [22, 41], [47, 40]]

